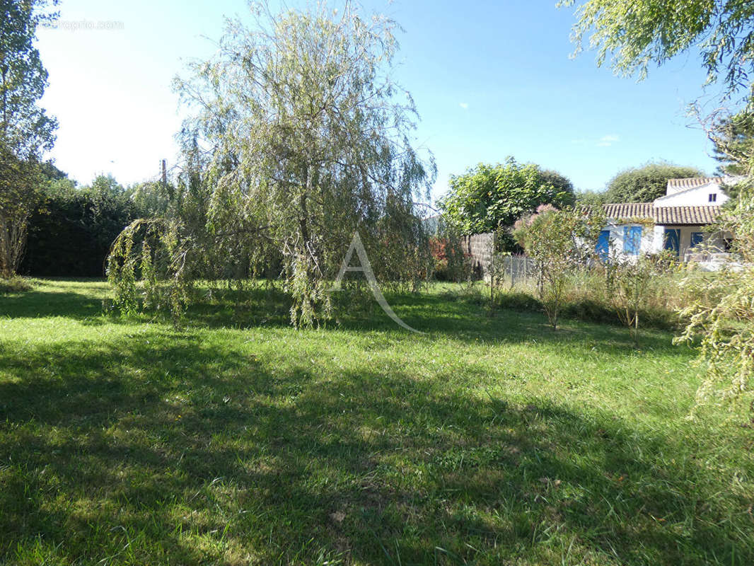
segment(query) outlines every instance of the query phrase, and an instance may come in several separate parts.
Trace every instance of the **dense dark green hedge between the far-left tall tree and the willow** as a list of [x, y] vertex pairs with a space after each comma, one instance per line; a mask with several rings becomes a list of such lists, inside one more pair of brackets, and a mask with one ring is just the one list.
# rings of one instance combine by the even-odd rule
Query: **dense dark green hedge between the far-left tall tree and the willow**
[[29, 223], [20, 272], [103, 277], [112, 241], [136, 217], [136, 205], [112, 177], [97, 177], [81, 188], [67, 179], [54, 180]]

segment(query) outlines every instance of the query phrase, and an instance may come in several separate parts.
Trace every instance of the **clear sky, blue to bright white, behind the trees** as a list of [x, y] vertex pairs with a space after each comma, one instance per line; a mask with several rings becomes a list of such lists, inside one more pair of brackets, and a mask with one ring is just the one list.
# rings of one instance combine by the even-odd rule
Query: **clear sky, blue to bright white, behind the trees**
[[[556, 169], [578, 189], [602, 189], [655, 158], [711, 173], [710, 144], [685, 113], [702, 93], [697, 58], [651, 69], [640, 83], [616, 77], [593, 52], [569, 57], [574, 16], [554, 4], [363, 2], [405, 29], [397, 78], [421, 115], [417, 143], [437, 159], [433, 196], [450, 174], [507, 155]], [[176, 155], [171, 79], [185, 60], [213, 52], [207, 38], [219, 38], [224, 15], [244, 16], [246, 2], [63, 0], [60, 12], [58, 28], [38, 34], [50, 73], [43, 105], [60, 122], [58, 167], [81, 183], [100, 173], [124, 184], [155, 178], [159, 160]], [[81, 20], [122, 25], [72, 29]]]

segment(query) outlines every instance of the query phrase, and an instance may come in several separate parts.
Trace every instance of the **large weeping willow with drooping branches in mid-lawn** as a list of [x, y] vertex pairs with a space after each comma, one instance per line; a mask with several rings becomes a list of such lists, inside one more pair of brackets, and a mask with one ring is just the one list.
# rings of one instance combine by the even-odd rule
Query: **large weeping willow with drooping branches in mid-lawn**
[[253, 26], [229, 20], [216, 54], [176, 78], [192, 109], [182, 173], [168, 210], [113, 245], [121, 309], [179, 313], [197, 278], [277, 267], [293, 325], [314, 324], [329, 315], [329, 281], [355, 231], [378, 277], [425, 275], [414, 201], [428, 198], [435, 168], [412, 147], [418, 114], [391, 78], [396, 23], [348, 3], [251, 11]]

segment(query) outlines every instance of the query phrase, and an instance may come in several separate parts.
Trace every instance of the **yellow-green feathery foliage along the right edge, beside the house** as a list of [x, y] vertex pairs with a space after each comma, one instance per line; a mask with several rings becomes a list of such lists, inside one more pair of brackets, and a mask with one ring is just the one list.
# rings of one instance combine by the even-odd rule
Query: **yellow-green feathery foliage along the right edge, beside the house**
[[[730, 114], [728, 114], [730, 116]], [[754, 101], [733, 115], [734, 126], [754, 124]], [[715, 118], [713, 116], [713, 118]], [[705, 125], [706, 127], [706, 125]], [[703, 380], [697, 405], [728, 405], [754, 417], [754, 143], [731, 131], [729, 118], [714, 119], [706, 133], [721, 161], [743, 179], [726, 188], [731, 195], [716, 229], [731, 238], [737, 263], [683, 286], [694, 297], [682, 310], [688, 321], [676, 342], [696, 346]]]

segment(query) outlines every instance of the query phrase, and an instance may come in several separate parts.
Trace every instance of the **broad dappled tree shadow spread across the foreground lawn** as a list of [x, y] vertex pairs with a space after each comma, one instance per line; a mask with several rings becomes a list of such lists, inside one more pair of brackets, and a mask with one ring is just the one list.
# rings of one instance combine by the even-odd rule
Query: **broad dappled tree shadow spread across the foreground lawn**
[[0, 345], [0, 561], [754, 561], [688, 438], [326, 369], [155, 330]]

